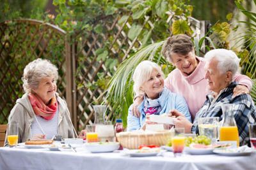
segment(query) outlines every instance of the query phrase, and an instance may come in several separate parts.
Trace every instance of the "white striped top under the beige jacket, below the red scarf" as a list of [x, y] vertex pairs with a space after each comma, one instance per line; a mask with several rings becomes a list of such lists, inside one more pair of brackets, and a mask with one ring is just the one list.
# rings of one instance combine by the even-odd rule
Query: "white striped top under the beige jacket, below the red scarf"
[[51, 120], [36, 116], [31, 124], [31, 137], [35, 134], [45, 134], [46, 139], [52, 139], [55, 134], [58, 134], [58, 115], [59, 107]]

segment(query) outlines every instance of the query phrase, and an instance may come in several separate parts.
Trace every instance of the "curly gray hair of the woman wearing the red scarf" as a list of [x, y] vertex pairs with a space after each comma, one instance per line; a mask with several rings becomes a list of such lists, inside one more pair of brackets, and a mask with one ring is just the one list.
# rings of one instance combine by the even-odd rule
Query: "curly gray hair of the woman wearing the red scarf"
[[23, 89], [26, 93], [32, 92], [32, 89], [37, 89], [42, 78], [54, 77], [58, 80], [58, 68], [49, 60], [36, 59], [25, 67], [22, 81]]

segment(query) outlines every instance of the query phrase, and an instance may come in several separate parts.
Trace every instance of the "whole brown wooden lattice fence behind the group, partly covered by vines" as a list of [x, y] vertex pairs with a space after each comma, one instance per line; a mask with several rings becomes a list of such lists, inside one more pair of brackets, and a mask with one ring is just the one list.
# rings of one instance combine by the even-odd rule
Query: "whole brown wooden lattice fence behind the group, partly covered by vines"
[[[120, 117], [111, 108], [111, 103], [106, 101], [106, 82], [99, 85], [102, 77], [111, 78], [116, 70], [115, 66], [109, 69], [106, 55], [113, 62], [122, 62], [143, 45], [138, 37], [154, 29], [154, 21], [145, 16], [141, 29], [131, 38], [128, 34], [133, 20], [131, 13], [125, 15], [127, 18], [123, 22], [118, 22], [122, 14], [102, 20], [102, 33], [79, 32], [72, 36], [54, 25], [35, 20], [1, 23], [0, 124], [7, 123], [16, 99], [24, 93], [21, 81], [24, 66], [38, 57], [49, 59], [58, 66], [58, 93], [66, 99], [72, 122], [78, 131], [84, 129], [86, 124], [92, 124], [92, 104], [108, 103], [108, 120]], [[172, 15], [169, 19], [173, 19]], [[200, 32], [195, 36], [204, 36], [205, 22], [193, 18], [189, 20], [195, 34]], [[150, 39], [150, 42], [154, 42], [154, 39]], [[99, 49], [108, 53], [99, 54]]]

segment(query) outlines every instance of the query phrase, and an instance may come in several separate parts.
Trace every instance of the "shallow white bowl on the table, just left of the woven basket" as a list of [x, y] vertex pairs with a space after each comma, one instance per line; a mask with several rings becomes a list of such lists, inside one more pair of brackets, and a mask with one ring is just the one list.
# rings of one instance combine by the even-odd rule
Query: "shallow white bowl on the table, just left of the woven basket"
[[84, 146], [87, 150], [92, 153], [100, 153], [100, 152], [113, 152], [114, 150], [118, 150], [119, 143], [117, 142], [93, 142], [93, 143], [84, 143]]

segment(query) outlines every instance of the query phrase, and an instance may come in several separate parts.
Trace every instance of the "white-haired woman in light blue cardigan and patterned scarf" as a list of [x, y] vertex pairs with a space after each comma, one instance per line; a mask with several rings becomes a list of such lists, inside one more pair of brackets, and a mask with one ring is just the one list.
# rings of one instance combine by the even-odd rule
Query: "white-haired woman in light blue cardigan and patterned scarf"
[[156, 63], [148, 60], [141, 62], [136, 67], [132, 79], [134, 92], [144, 98], [138, 106], [140, 117], [132, 115], [132, 105], [129, 107], [127, 131], [145, 129], [147, 114], [162, 115], [170, 110], [180, 111], [191, 122], [185, 99], [164, 87], [163, 71]]

